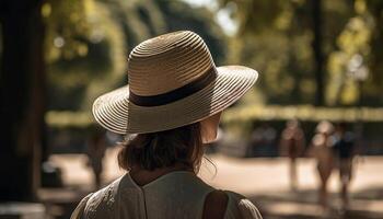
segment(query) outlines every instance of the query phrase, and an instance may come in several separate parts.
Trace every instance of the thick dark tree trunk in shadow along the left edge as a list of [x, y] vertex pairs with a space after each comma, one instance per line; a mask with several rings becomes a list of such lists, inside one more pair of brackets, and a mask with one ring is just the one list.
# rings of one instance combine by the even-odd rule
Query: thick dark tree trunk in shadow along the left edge
[[0, 3], [2, 38], [0, 200], [32, 200], [44, 127], [44, 25], [39, 0]]

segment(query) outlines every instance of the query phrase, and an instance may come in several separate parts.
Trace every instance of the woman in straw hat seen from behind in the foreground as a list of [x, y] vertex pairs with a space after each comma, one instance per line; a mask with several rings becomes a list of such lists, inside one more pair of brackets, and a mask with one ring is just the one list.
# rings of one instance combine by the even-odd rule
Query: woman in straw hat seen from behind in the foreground
[[[160, 65], [161, 64], [161, 65]], [[121, 135], [127, 173], [84, 197], [71, 218], [262, 218], [244, 196], [197, 176], [221, 112], [248, 91], [257, 72], [216, 67], [204, 41], [181, 31], [139, 44], [129, 55], [129, 87], [100, 96], [93, 115]]]

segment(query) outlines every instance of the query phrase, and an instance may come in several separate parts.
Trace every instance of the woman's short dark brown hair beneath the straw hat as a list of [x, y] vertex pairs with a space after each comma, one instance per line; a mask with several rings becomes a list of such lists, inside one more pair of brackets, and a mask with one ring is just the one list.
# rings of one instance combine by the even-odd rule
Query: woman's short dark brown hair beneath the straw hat
[[197, 173], [204, 155], [200, 123], [159, 132], [138, 134], [121, 145], [118, 165], [125, 170], [138, 165], [152, 171], [182, 163]]

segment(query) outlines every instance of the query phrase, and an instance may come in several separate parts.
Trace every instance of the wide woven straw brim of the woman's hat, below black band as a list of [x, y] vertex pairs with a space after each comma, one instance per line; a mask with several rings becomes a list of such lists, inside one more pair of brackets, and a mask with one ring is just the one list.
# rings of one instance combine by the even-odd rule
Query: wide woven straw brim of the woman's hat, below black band
[[116, 134], [155, 132], [189, 125], [217, 114], [252, 88], [258, 72], [243, 66], [217, 68], [217, 78], [206, 88], [176, 102], [160, 106], [138, 106], [129, 102], [128, 85], [97, 97], [95, 120]]

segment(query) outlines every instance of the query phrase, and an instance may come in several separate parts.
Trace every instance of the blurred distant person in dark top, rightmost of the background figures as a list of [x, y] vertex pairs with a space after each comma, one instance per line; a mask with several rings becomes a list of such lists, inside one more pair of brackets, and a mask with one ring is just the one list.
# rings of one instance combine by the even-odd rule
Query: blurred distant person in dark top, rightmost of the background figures
[[348, 188], [352, 178], [353, 158], [357, 154], [355, 134], [347, 130], [346, 123], [337, 124], [333, 143], [341, 184], [343, 208], [346, 209], [349, 204]]

